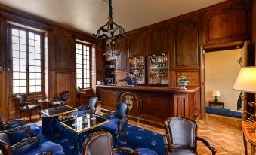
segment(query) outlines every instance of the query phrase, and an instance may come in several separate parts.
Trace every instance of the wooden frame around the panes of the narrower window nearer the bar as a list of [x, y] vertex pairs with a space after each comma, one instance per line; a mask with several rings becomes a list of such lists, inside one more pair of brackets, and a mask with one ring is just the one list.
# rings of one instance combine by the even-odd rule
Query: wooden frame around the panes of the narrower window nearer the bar
[[[86, 44], [84, 41], [76, 41], [76, 45], [77, 44], [81, 44], [82, 45], [82, 71], [84, 71], [84, 51], [83, 51], [83, 46], [87, 46], [89, 47], [89, 80], [90, 80], [90, 87], [84, 87], [84, 74], [82, 74], [82, 89], [86, 90], [86, 89], [91, 89], [92, 88], [92, 84], [91, 84], [91, 44]], [[75, 45], [75, 47], [76, 47]], [[76, 49], [76, 48], [75, 48]], [[76, 63], [77, 64], [77, 63]], [[76, 68], [77, 70], [77, 68]], [[84, 72], [83, 72], [84, 73]], [[77, 72], [76, 72], [76, 88], [78, 87], [78, 84], [77, 84]]]

